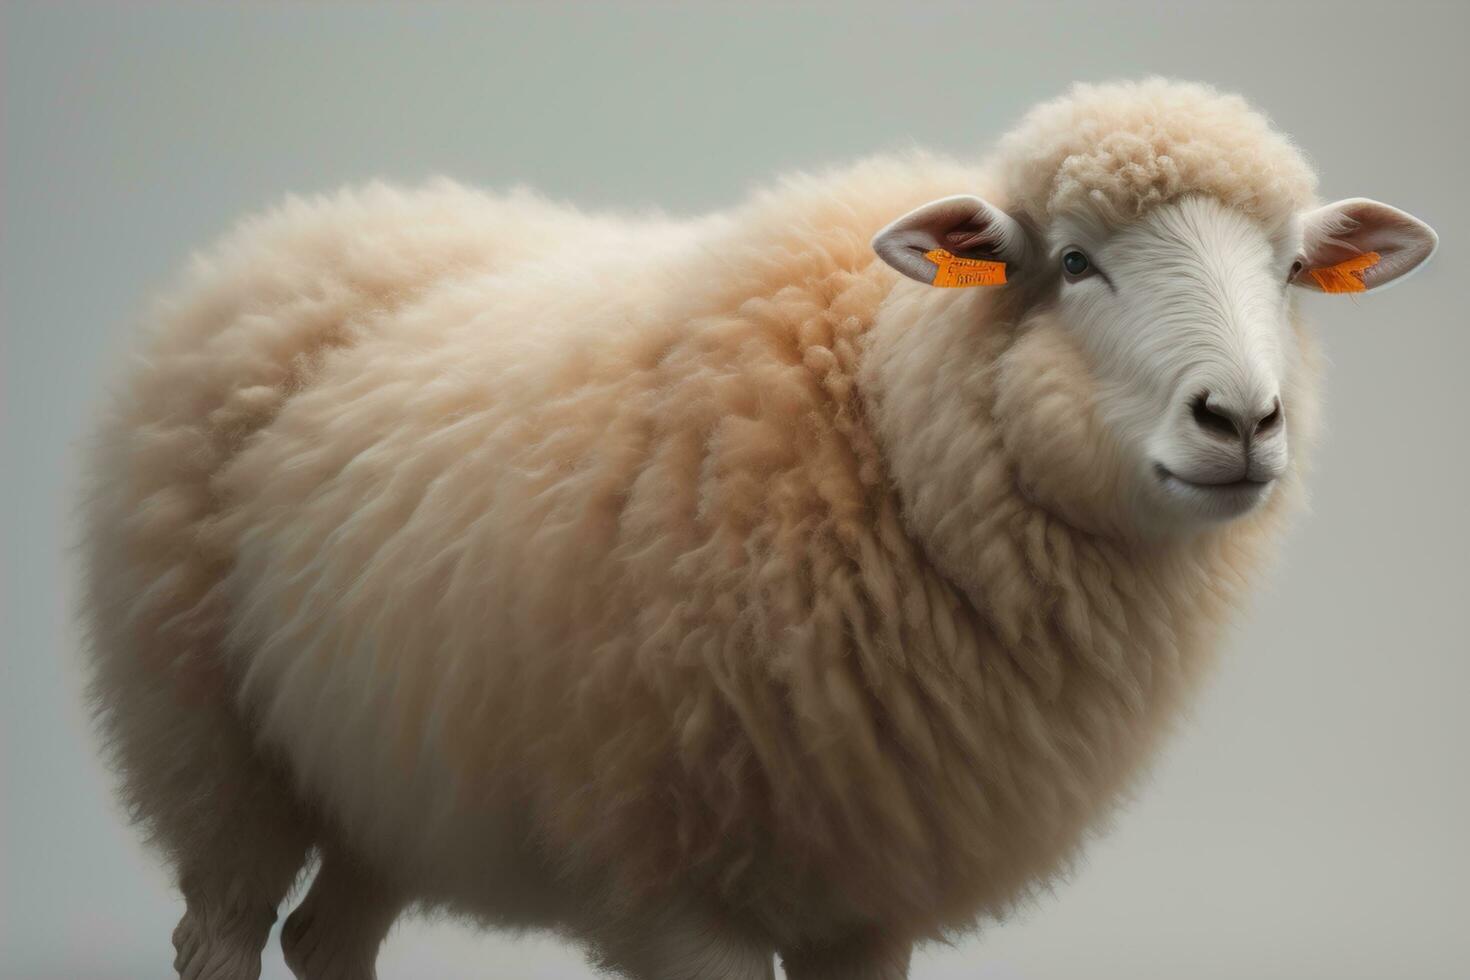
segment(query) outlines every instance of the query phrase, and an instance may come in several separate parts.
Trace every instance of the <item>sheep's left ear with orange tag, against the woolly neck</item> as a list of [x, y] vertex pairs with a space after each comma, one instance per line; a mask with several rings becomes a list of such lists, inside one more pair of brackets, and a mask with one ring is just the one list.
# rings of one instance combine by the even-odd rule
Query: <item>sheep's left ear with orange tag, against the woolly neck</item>
[[994, 204], [960, 194], [908, 212], [873, 237], [873, 251], [919, 282], [1000, 285], [1025, 257], [1026, 232]]

